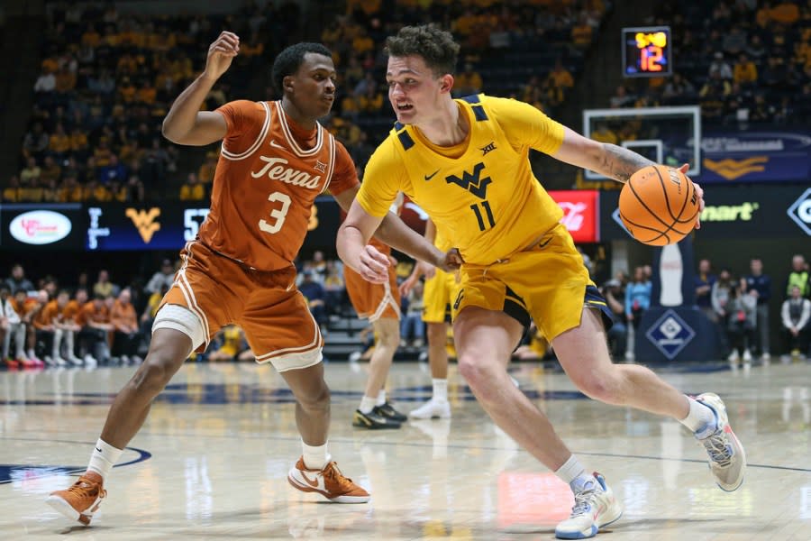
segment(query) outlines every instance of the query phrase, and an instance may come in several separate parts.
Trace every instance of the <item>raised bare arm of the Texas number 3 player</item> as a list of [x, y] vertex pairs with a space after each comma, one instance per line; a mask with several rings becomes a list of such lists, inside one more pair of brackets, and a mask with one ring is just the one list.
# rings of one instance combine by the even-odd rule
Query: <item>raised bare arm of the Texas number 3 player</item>
[[200, 107], [239, 51], [239, 36], [233, 32], [220, 33], [208, 48], [203, 73], [178, 96], [163, 120], [164, 137], [178, 144], [196, 146], [223, 139], [228, 129], [223, 115], [200, 111]]

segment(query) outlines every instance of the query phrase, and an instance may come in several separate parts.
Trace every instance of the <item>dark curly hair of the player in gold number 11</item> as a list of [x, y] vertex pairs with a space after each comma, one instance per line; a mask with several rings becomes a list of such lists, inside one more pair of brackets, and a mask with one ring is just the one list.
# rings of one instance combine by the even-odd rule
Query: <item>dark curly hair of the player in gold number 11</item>
[[404, 26], [396, 36], [387, 37], [385, 50], [388, 56], [421, 56], [433, 74], [441, 77], [446, 73], [453, 75], [456, 71], [459, 43], [453, 41], [451, 32], [436, 24], [424, 24]]

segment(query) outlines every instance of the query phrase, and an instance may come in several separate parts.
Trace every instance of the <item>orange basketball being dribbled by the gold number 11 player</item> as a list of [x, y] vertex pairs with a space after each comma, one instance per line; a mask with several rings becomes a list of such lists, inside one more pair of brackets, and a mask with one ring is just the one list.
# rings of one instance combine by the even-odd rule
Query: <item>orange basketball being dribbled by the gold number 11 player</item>
[[679, 170], [649, 165], [625, 183], [619, 210], [623, 224], [640, 243], [678, 243], [698, 220], [696, 188]]

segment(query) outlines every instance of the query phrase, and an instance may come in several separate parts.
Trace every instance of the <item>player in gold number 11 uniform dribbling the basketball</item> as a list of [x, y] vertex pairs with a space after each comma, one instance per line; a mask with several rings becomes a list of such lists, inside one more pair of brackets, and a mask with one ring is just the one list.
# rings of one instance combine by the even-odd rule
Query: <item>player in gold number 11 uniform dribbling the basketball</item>
[[645, 367], [612, 364], [606, 302], [559, 224], [560, 208], [534, 178], [528, 153], [542, 151], [620, 182], [651, 162], [584, 138], [522, 102], [453, 99], [459, 46], [448, 32], [405, 27], [386, 45], [388, 96], [398, 122], [369, 160], [339, 231], [338, 252], [369, 280], [387, 278], [386, 258], [369, 264], [367, 243], [398, 191], [448, 234], [464, 261], [453, 305], [460, 373], [496, 424], [570, 484], [575, 505], [556, 535], [595, 536], [623, 507], [604, 477], [586, 470], [509, 380], [506, 362], [530, 317], [579, 390], [679, 420], [706, 447], [717, 484], [737, 489], [745, 457], [721, 399], [710, 393], [694, 399]]

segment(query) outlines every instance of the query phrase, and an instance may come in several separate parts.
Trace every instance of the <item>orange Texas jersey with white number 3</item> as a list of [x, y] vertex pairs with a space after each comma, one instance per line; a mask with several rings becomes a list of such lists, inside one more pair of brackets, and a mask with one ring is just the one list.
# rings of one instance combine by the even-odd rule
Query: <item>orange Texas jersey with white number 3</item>
[[288, 267], [304, 243], [315, 197], [358, 185], [349, 152], [316, 124], [307, 133], [281, 102], [234, 101], [217, 109], [228, 132], [199, 240], [260, 271]]

